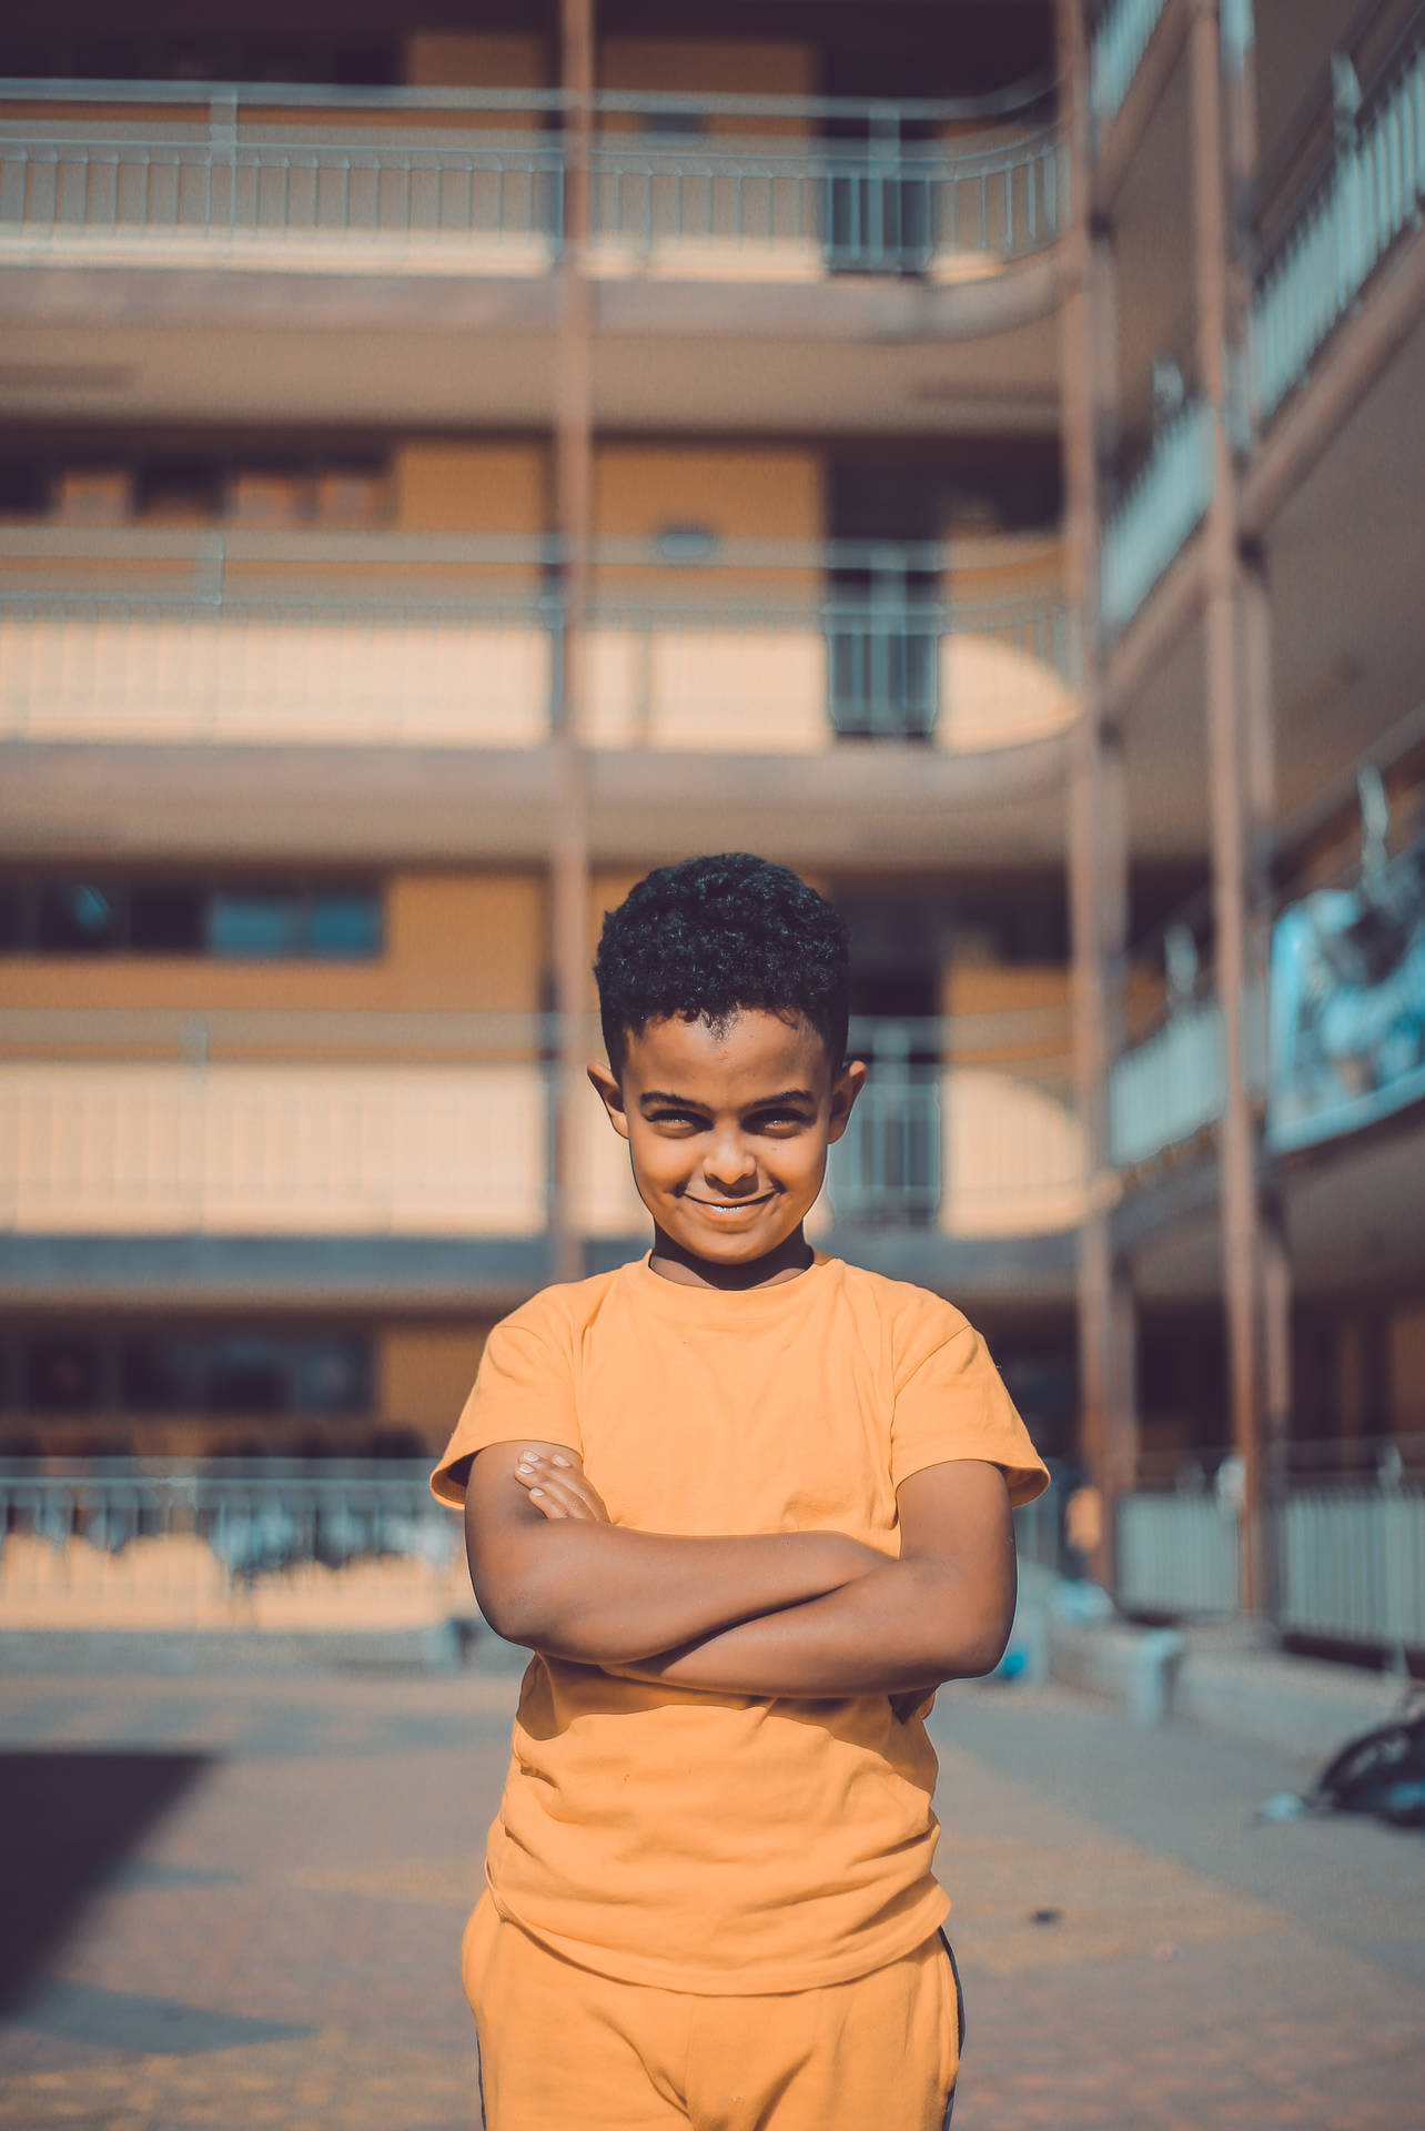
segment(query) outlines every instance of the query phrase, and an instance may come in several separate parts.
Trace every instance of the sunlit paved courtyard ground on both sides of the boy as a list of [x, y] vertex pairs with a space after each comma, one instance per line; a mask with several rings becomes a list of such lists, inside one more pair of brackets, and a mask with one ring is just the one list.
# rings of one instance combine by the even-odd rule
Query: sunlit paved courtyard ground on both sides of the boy
[[[0, 1679], [0, 2125], [471, 2131], [456, 1946], [511, 1698]], [[1425, 1837], [1259, 1822], [1299, 1764], [1065, 1690], [935, 1722], [954, 2131], [1425, 2120]]]

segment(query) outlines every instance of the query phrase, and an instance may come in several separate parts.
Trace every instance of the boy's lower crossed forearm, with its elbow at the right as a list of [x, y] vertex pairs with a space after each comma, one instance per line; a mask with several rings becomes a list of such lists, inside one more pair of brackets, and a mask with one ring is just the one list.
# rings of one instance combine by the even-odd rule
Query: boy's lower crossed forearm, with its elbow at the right
[[939, 1562], [884, 1562], [822, 1598], [630, 1666], [709, 1694], [905, 1694], [990, 1673], [1014, 1594], [965, 1590]]

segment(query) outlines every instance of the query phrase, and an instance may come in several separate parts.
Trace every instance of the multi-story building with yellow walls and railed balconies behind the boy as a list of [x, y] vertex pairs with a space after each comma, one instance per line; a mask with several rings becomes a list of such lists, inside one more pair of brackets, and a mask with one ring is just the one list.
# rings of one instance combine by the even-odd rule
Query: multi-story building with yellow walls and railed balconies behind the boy
[[822, 1234], [984, 1323], [1127, 1596], [1231, 1553], [1165, 1460], [1235, 1445], [1252, 1541], [1263, 1445], [1408, 1432], [1399, 1016], [1391, 1093], [1265, 1138], [1259, 1027], [1363, 754], [1408, 837], [1416, 19], [9, 40], [11, 1455], [435, 1447], [496, 1315], [639, 1247], [592, 940], [716, 848], [852, 925]]

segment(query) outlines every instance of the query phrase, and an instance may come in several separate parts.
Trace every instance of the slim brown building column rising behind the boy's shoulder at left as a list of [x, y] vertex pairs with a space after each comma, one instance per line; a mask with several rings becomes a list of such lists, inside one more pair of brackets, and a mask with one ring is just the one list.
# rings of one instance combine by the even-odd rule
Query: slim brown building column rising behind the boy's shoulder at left
[[556, 1281], [584, 1272], [584, 1134], [588, 1063], [590, 827], [588, 609], [594, 520], [594, 292], [588, 275], [590, 147], [594, 132], [594, 0], [560, 0], [564, 90], [564, 232], [558, 262], [554, 522], [560, 554], [550, 931], [556, 1016], [550, 1240]]

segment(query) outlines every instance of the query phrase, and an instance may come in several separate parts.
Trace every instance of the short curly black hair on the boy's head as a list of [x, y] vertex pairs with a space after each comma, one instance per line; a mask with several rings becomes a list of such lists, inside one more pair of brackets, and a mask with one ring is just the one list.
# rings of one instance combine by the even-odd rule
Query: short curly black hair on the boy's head
[[816, 889], [769, 859], [726, 850], [660, 865], [609, 910], [594, 959], [609, 1066], [650, 1021], [707, 1021], [760, 1008], [807, 1021], [846, 1057], [846, 923]]

